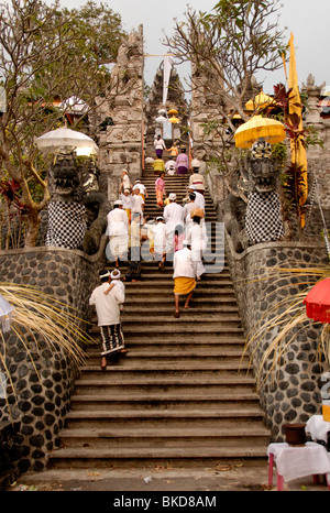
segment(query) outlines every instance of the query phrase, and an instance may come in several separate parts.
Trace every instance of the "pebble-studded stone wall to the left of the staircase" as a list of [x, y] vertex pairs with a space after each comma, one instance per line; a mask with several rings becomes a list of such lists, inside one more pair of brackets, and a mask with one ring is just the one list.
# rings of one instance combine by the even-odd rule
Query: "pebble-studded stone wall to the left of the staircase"
[[[106, 264], [105, 247], [106, 238], [92, 256], [59, 248], [0, 251], [0, 282], [35, 286], [61, 301], [64, 310], [66, 305], [74, 307], [77, 309], [75, 315], [88, 320], [91, 314], [88, 298], [99, 284], [98, 273]], [[84, 320], [80, 328], [86, 329]], [[38, 350], [33, 350], [35, 346], [30, 336], [30, 340], [26, 339], [32, 347], [32, 362], [16, 336], [12, 331], [6, 335], [3, 358], [12, 383], [8, 380], [7, 400], [0, 399], [0, 422], [13, 419], [20, 423], [14, 451], [18, 471], [42, 470], [46, 466], [47, 451], [58, 447], [58, 433], [78, 375], [77, 364], [59, 348], [56, 350], [56, 343], [50, 349], [40, 337]]]

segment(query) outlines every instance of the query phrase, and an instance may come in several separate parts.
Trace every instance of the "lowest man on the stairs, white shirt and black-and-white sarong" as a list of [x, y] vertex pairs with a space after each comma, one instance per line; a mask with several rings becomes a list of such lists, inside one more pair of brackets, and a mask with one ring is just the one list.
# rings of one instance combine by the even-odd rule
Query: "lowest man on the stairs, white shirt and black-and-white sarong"
[[[127, 352], [120, 325], [120, 304], [124, 302], [121, 288], [109, 290], [110, 272], [105, 270], [100, 274], [101, 285], [96, 287], [89, 298], [89, 304], [96, 307], [101, 339], [101, 369], [107, 369], [107, 357]], [[106, 293], [107, 292], [107, 293]]]

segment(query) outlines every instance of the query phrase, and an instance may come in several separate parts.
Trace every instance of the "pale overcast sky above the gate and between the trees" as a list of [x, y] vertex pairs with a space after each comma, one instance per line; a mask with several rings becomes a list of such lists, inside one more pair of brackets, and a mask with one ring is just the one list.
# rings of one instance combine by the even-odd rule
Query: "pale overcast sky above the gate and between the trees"
[[[61, 4], [68, 8], [80, 7], [84, 3], [85, 0], [61, 0]], [[197, 11], [210, 11], [217, 0], [103, 0], [102, 3], [121, 14], [127, 32], [143, 24], [146, 54], [164, 54], [166, 47], [161, 43], [163, 30], [170, 35], [173, 20], [175, 18], [184, 20], [187, 6]], [[280, 29], [287, 28], [287, 40], [289, 40], [290, 32], [294, 33], [299, 84], [306, 83], [308, 74], [311, 73], [317, 85], [324, 81], [330, 89], [328, 54], [330, 50], [330, 0], [282, 0], [282, 4], [279, 24]], [[145, 81], [147, 85], [152, 85], [162, 61], [161, 56], [146, 57]], [[189, 74], [189, 68], [177, 67], [177, 70], [184, 81], [184, 77]], [[257, 78], [258, 81], [265, 80], [264, 91], [270, 94], [273, 94], [274, 84], [285, 83], [284, 70]]]

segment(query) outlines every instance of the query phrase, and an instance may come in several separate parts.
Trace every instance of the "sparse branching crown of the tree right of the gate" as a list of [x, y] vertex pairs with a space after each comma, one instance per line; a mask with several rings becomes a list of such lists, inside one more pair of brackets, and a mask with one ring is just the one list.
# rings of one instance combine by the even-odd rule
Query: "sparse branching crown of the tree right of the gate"
[[283, 65], [277, 10], [278, 0], [220, 0], [210, 13], [188, 10], [186, 21], [176, 21], [174, 35], [166, 37], [178, 62], [191, 62], [193, 90], [202, 87], [229, 123], [228, 110], [246, 119], [253, 77]]

